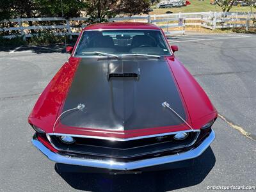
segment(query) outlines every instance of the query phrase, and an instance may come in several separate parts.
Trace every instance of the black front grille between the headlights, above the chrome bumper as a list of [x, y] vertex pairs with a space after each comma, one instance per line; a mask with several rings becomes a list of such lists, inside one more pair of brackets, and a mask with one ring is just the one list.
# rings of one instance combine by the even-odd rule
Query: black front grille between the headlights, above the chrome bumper
[[94, 157], [108, 157], [115, 159], [143, 159], [148, 156], [159, 156], [166, 152], [184, 151], [195, 143], [199, 132], [189, 132], [188, 138], [182, 141], [173, 139], [173, 134], [129, 141], [110, 141], [92, 138], [75, 138], [76, 143], [67, 145], [58, 136], [51, 136], [51, 143], [62, 152], [69, 154], [83, 154]]

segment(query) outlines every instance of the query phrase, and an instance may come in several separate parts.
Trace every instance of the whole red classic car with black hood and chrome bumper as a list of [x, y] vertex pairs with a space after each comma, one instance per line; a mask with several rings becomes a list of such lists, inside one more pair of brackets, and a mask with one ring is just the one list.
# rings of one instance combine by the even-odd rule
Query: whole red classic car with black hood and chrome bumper
[[87, 26], [29, 115], [33, 145], [97, 172], [193, 163], [215, 138], [217, 111], [175, 51], [153, 24]]

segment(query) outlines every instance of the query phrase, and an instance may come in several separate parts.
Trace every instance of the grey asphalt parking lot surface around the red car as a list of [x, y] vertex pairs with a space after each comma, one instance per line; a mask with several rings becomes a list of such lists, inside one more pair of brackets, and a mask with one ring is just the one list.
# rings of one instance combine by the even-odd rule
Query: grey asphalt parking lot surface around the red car
[[175, 55], [220, 113], [195, 166], [138, 175], [59, 173], [32, 146], [36, 99], [67, 60], [63, 45], [0, 50], [1, 191], [206, 191], [256, 183], [256, 36], [180, 35]]

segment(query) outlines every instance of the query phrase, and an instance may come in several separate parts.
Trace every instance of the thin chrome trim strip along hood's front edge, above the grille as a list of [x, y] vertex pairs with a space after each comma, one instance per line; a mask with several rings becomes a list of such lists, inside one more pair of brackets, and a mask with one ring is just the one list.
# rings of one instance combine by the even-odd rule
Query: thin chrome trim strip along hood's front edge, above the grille
[[110, 137], [103, 137], [103, 136], [88, 136], [88, 135], [81, 135], [81, 134], [63, 134], [63, 133], [47, 133], [49, 135], [55, 135], [55, 136], [72, 136], [72, 137], [77, 137], [77, 138], [92, 138], [92, 139], [100, 139], [100, 140], [110, 140], [110, 141], [130, 141], [130, 140], [139, 140], [139, 139], [144, 139], [144, 138], [154, 138], [157, 136], [166, 136], [169, 134], [177, 134], [179, 132], [200, 132], [200, 129], [194, 129], [194, 130], [184, 130], [184, 131], [175, 131], [175, 132], [165, 132], [165, 133], [160, 133], [160, 134], [150, 134], [146, 136], [138, 136], [134, 138], [110, 138]]

